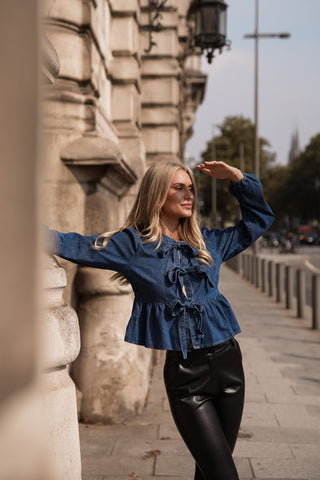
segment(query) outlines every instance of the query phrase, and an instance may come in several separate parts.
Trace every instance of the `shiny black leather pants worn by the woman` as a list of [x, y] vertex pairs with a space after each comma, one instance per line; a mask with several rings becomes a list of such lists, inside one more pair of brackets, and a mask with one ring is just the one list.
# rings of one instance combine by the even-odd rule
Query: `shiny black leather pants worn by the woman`
[[195, 480], [239, 480], [232, 458], [244, 402], [235, 339], [215, 347], [168, 351], [164, 380], [177, 428], [196, 461]]

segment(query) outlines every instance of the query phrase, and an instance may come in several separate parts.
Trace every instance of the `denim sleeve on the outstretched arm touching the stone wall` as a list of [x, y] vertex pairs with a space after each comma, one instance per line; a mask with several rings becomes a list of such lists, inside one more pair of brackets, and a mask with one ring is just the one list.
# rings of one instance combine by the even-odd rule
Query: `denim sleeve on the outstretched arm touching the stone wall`
[[125, 229], [115, 233], [104, 249], [95, 250], [92, 246], [97, 236], [98, 234], [84, 236], [47, 229], [46, 241], [49, 250], [61, 258], [79, 265], [114, 270], [126, 275], [138, 248], [137, 236]]

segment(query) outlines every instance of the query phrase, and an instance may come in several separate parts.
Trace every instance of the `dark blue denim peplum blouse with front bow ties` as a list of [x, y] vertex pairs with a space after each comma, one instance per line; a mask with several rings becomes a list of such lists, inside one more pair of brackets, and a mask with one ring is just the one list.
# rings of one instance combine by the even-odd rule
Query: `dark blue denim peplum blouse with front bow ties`
[[251, 245], [274, 220], [254, 175], [231, 182], [229, 190], [239, 201], [242, 220], [224, 230], [202, 228], [211, 266], [198, 262], [199, 250], [184, 241], [163, 235], [157, 249], [158, 242], [145, 243], [134, 228], [114, 234], [103, 250], [91, 248], [98, 235], [49, 230], [49, 248], [80, 265], [121, 273], [135, 295], [125, 340], [180, 350], [186, 358], [191, 345], [217, 345], [241, 331], [218, 290], [220, 265]]

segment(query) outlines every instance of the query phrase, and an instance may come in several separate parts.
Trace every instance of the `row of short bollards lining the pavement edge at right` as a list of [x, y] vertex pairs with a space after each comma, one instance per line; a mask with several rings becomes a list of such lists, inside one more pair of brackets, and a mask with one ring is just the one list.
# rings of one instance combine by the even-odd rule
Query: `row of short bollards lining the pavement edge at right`
[[294, 308], [296, 298], [298, 318], [306, 316], [306, 277], [311, 277], [308, 297], [311, 296], [312, 328], [320, 329], [320, 273], [247, 252], [229, 260], [228, 266], [276, 302], [284, 303], [287, 309]]

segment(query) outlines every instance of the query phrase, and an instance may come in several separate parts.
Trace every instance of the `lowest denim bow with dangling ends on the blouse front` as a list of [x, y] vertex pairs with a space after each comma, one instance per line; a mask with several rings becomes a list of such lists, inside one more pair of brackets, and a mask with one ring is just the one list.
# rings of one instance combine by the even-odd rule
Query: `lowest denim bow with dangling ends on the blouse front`
[[189, 300], [183, 303], [178, 300], [170, 307], [171, 315], [178, 317], [179, 342], [183, 358], [187, 358], [188, 355], [187, 329], [190, 321], [196, 320], [197, 337], [204, 337], [202, 331], [202, 311], [203, 307], [200, 303], [194, 303]]

